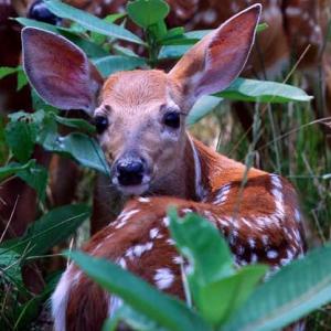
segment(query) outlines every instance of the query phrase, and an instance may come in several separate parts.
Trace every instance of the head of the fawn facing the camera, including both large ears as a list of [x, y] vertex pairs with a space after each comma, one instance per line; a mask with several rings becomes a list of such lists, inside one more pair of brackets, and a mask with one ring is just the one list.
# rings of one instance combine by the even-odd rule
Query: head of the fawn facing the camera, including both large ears
[[118, 72], [103, 82], [76, 45], [54, 33], [25, 28], [23, 64], [40, 96], [60, 109], [94, 117], [111, 163], [111, 180], [142, 194], [179, 167], [188, 141], [185, 116], [195, 100], [226, 88], [250, 52], [260, 6], [233, 17], [194, 45], [169, 72]]

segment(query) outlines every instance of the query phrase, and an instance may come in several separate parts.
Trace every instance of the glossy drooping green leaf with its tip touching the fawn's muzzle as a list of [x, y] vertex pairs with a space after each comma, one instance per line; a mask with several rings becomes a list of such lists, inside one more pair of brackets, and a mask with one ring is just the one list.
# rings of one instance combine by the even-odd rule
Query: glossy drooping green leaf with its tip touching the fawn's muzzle
[[51, 134], [42, 141], [42, 146], [49, 151], [68, 153], [82, 166], [109, 174], [105, 154], [92, 137], [79, 132], [65, 137]]

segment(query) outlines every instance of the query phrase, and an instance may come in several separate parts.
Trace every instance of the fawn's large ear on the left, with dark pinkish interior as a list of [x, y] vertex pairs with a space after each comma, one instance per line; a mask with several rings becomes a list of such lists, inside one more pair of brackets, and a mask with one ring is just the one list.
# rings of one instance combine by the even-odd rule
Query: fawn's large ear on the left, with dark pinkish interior
[[85, 53], [61, 35], [22, 31], [23, 66], [31, 85], [50, 105], [92, 113], [103, 78]]

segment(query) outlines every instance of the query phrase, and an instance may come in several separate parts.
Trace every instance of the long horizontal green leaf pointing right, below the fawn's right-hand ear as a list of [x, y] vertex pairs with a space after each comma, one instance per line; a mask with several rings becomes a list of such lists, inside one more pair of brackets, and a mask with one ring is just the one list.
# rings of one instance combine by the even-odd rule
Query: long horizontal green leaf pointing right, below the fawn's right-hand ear
[[215, 96], [236, 102], [273, 104], [310, 102], [312, 99], [305, 90], [291, 85], [245, 78], [237, 78], [229, 87], [216, 93]]

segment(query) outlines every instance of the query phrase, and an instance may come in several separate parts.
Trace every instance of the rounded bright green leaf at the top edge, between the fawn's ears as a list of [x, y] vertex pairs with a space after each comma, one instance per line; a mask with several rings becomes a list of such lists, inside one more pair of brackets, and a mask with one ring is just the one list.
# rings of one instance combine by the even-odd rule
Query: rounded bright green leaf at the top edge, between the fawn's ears
[[169, 4], [162, 0], [136, 0], [127, 4], [129, 18], [143, 29], [163, 21], [169, 11]]

